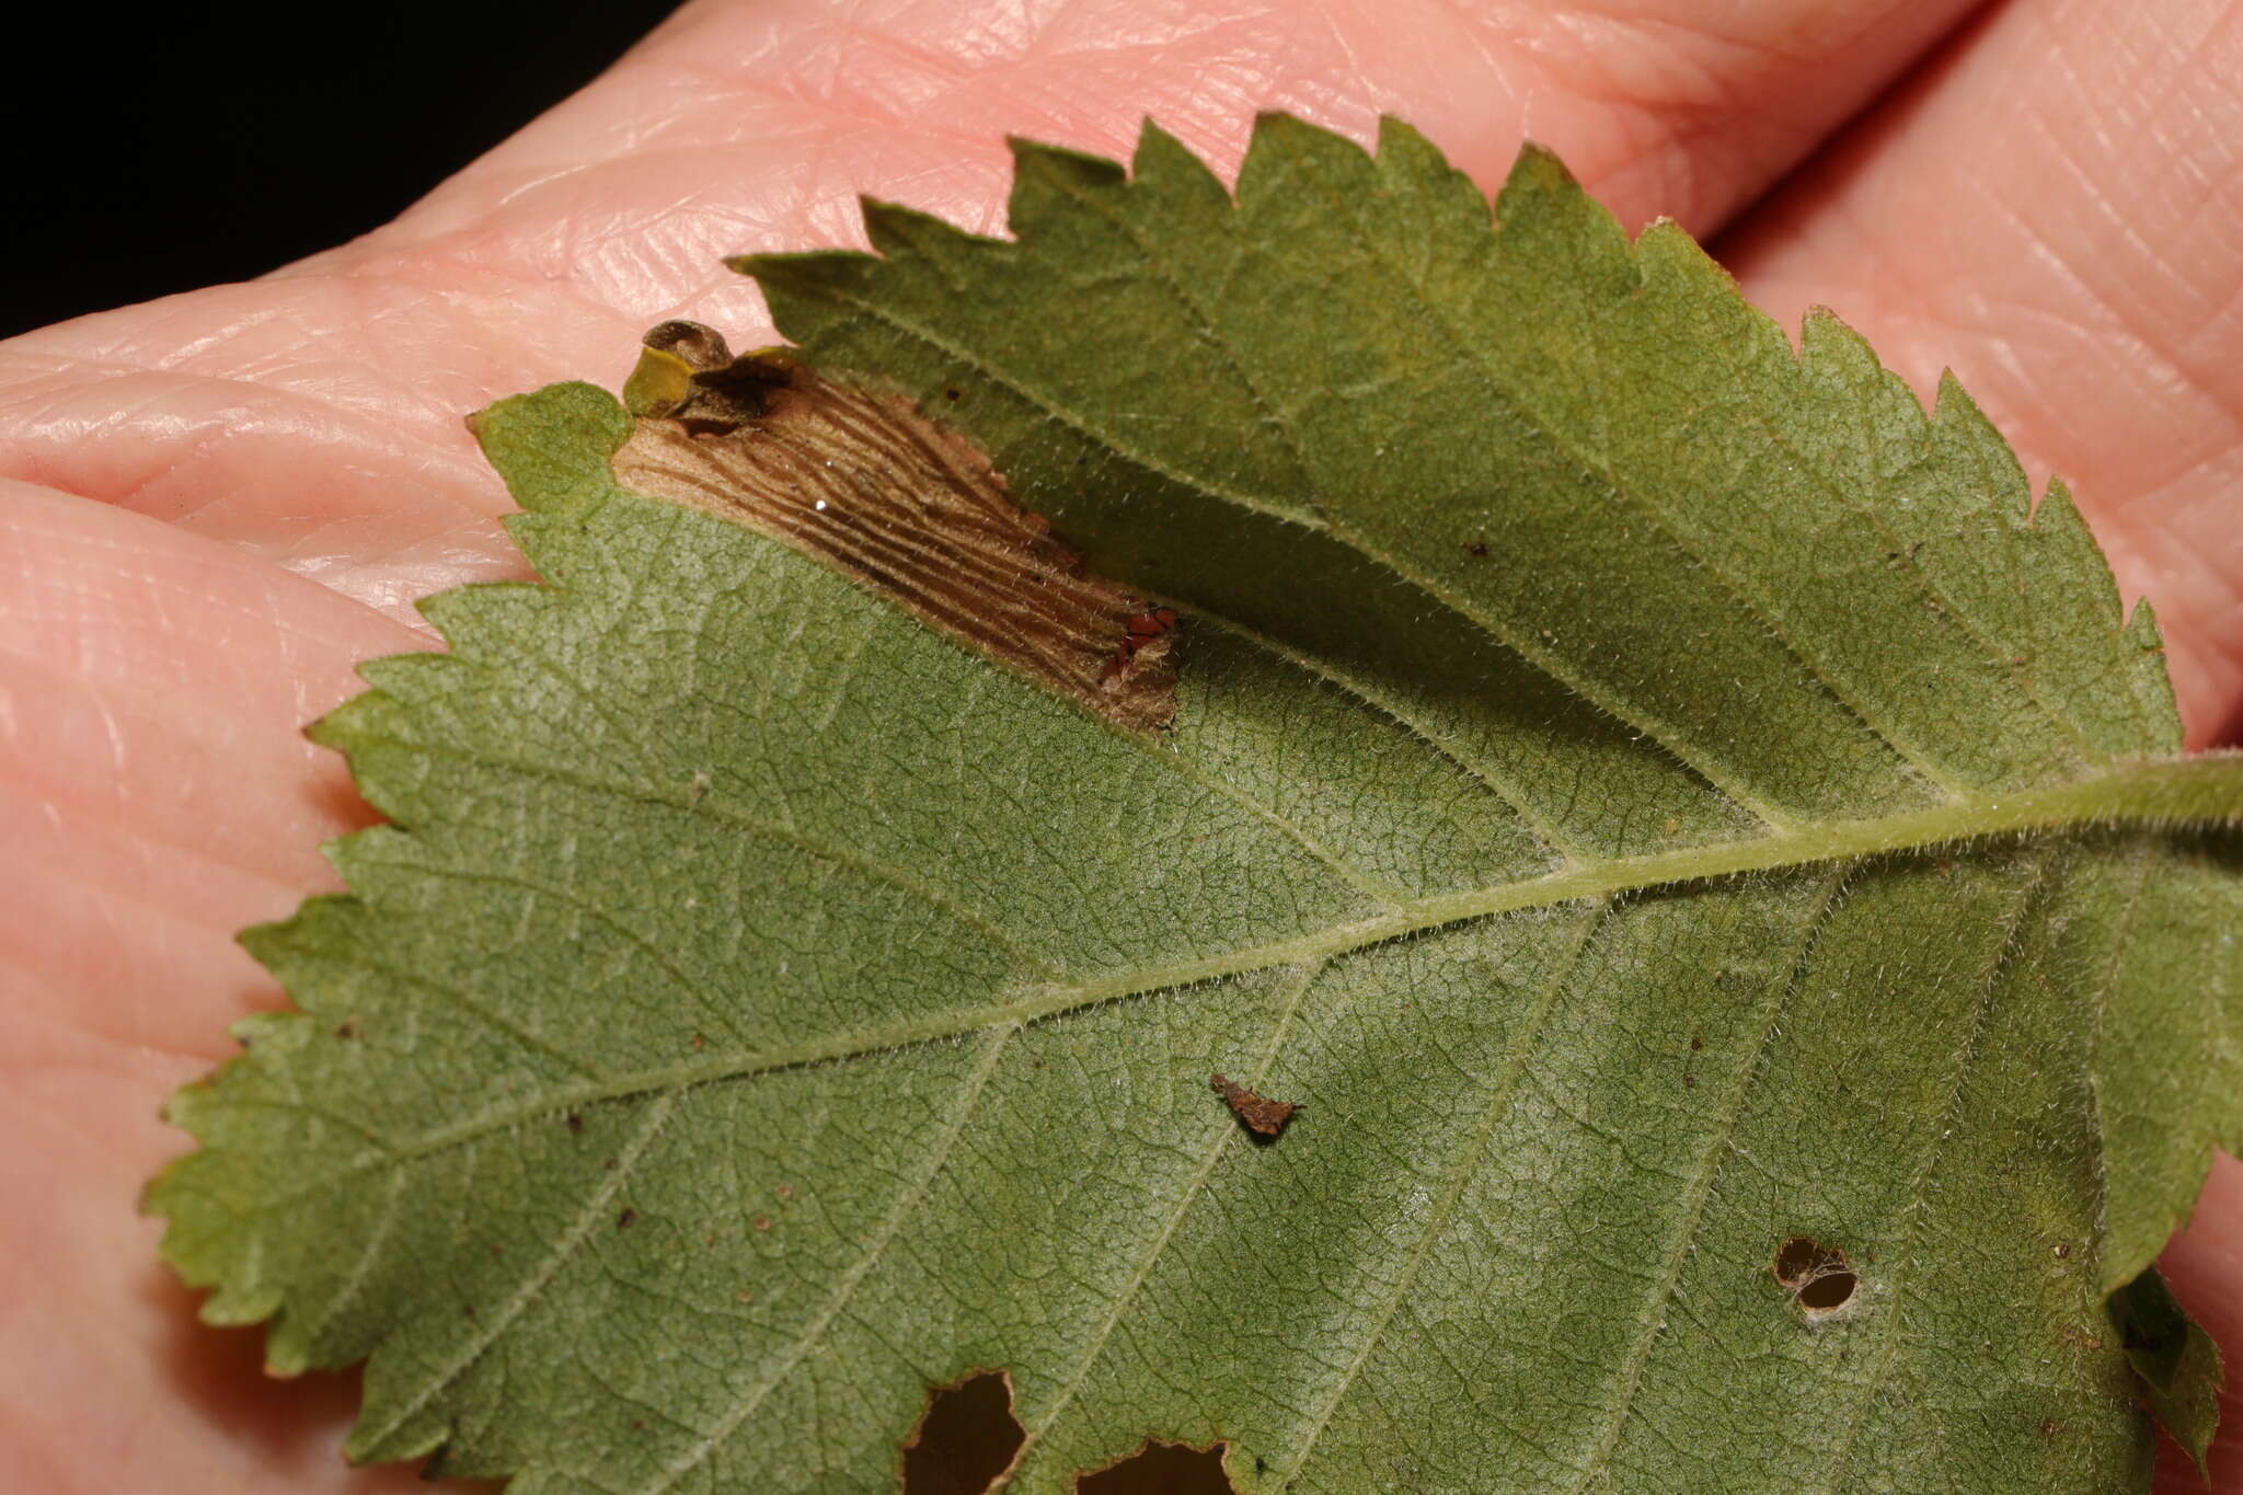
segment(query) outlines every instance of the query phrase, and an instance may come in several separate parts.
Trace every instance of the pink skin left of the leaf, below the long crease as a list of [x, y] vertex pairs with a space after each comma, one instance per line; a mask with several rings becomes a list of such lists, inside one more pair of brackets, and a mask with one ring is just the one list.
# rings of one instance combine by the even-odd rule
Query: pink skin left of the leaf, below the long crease
[[370, 818], [298, 724], [419, 641], [224, 545], [0, 489], [0, 847], [36, 867], [0, 899], [0, 1486], [406, 1488], [334, 1457], [348, 1383], [269, 1392], [258, 1336], [193, 1329], [132, 1201], [186, 1143], [159, 1098], [280, 1002], [233, 932], [330, 885], [316, 843]]

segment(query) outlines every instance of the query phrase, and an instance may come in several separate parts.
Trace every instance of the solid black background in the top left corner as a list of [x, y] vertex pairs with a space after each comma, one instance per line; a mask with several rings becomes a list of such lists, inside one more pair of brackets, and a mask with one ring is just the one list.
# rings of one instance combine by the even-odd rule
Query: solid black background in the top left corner
[[366, 233], [673, 9], [65, 0], [9, 18], [0, 336], [247, 280]]

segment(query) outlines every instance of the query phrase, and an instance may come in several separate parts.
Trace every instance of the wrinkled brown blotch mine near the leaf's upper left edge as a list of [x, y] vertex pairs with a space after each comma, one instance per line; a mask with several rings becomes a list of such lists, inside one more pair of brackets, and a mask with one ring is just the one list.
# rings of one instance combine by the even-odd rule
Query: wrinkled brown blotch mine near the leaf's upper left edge
[[1115, 726], [1175, 715], [1175, 612], [1083, 576], [989, 459], [911, 401], [787, 350], [733, 359], [698, 323], [646, 334], [624, 401], [626, 489], [783, 540]]

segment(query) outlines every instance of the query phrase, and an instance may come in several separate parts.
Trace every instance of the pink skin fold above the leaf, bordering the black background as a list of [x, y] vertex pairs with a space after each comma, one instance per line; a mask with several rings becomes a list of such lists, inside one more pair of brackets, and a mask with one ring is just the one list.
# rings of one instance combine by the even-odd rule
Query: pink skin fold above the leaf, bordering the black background
[[18, 341], [0, 473], [404, 616], [413, 592], [514, 565], [491, 524], [511, 504], [462, 412], [612, 383], [673, 314], [767, 336], [720, 258], [857, 242], [857, 193], [998, 226], [1007, 132], [1126, 152], [1157, 114], [1227, 166], [1261, 108], [1364, 139], [1391, 110], [1483, 179], [1534, 134], [1626, 217], [1711, 226], [1967, 9], [707, 2], [388, 231]]

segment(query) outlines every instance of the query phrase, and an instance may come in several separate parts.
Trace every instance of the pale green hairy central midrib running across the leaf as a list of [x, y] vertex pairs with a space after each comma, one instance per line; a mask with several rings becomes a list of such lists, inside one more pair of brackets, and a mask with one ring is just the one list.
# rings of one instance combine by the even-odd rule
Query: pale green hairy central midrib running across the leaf
[[[630, 793], [630, 798], [639, 800], [650, 798], [644, 789], [601, 784], [599, 780], [590, 780], [588, 787]], [[709, 809], [709, 800], [702, 800], [700, 807]], [[1678, 847], [1653, 856], [1579, 861], [1545, 876], [1413, 899], [1393, 912], [1353, 923], [1335, 923], [1290, 939], [1240, 946], [1164, 966], [1110, 971], [1083, 982], [1036, 982], [1014, 988], [1009, 1000], [964, 1011], [931, 1013], [911, 1022], [837, 1033], [747, 1056], [698, 1053], [686, 1062], [659, 1069], [637, 1069], [599, 1083], [552, 1089], [538, 1098], [493, 1107], [408, 1141], [381, 1143], [379, 1139], [370, 1139], [381, 1148], [377, 1157], [334, 1170], [305, 1190], [274, 1197], [260, 1206], [260, 1213], [287, 1208], [312, 1192], [334, 1188], [343, 1177], [399, 1168], [491, 1132], [554, 1116], [572, 1107], [630, 1101], [633, 1096], [653, 1092], [682, 1092], [724, 1080], [747, 1080], [781, 1069], [839, 1065], [875, 1053], [951, 1042], [987, 1033], [996, 1027], [1027, 1027], [1155, 991], [1196, 986], [1274, 966], [1328, 962], [1447, 923], [1752, 872], [1844, 863], [1942, 845], [1960, 847], [1990, 836], [2034, 829], [2209, 823], [2243, 823], [2243, 753], [2194, 753], [2187, 758], [2149, 760], [2066, 784], [2005, 793], [1999, 800], [1990, 796], [1958, 798], [1938, 809], [1866, 820], [1833, 820], [1756, 841]]]

